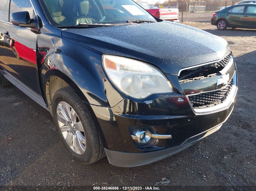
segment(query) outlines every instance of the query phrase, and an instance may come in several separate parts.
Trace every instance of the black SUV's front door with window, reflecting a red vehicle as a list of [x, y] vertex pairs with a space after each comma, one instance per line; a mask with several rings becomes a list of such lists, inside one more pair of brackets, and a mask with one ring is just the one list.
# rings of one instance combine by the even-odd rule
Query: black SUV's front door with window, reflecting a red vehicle
[[6, 70], [17, 79], [26, 94], [35, 93], [42, 97], [37, 66], [38, 30], [12, 24], [12, 13], [19, 11], [28, 11], [30, 18], [37, 19], [30, 0], [10, 0], [9, 23], [4, 24], [8, 31], [8, 38], [5, 38]]

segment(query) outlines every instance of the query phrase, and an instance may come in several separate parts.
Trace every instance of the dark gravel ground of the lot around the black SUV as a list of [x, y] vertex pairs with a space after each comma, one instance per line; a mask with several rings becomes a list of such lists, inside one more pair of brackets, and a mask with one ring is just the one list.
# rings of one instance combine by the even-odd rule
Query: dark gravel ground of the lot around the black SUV
[[[256, 30], [199, 28], [225, 38], [237, 63], [237, 102], [219, 131], [174, 156], [142, 167], [115, 167], [106, 157], [86, 166], [73, 161], [63, 147], [48, 111], [14, 86], [0, 88], [0, 186], [153, 186], [168, 178], [168, 186], [255, 190]], [[249, 185], [254, 187], [243, 187]], [[162, 185], [161, 189], [168, 188]]]

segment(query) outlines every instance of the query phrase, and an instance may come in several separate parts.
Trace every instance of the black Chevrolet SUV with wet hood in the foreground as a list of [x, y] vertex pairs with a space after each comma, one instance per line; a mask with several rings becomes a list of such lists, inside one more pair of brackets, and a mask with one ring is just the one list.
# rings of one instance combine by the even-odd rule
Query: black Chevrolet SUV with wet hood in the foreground
[[234, 107], [235, 62], [210, 33], [132, 0], [4, 0], [0, 85], [47, 109], [71, 155], [120, 167], [175, 154]]

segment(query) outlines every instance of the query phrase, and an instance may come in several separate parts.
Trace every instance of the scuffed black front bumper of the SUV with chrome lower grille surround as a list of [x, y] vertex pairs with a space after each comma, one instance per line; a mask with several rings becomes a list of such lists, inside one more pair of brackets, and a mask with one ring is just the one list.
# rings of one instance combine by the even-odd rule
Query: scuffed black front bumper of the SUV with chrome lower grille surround
[[[236, 72], [226, 101], [204, 109], [193, 108], [177, 76], [167, 78], [178, 93], [148, 101], [126, 97], [114, 107], [91, 105], [110, 164], [135, 167], [161, 160], [217, 131], [228, 119], [237, 94]], [[151, 133], [147, 144], [138, 140], [138, 131]]]

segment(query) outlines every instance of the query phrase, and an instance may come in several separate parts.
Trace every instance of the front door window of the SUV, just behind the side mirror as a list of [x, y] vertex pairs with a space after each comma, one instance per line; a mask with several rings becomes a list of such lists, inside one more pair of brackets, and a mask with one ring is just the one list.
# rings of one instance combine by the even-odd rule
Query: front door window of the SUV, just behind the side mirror
[[28, 11], [30, 18], [35, 18], [34, 10], [29, 0], [11, 0], [10, 21], [12, 20], [12, 13], [19, 11]]

